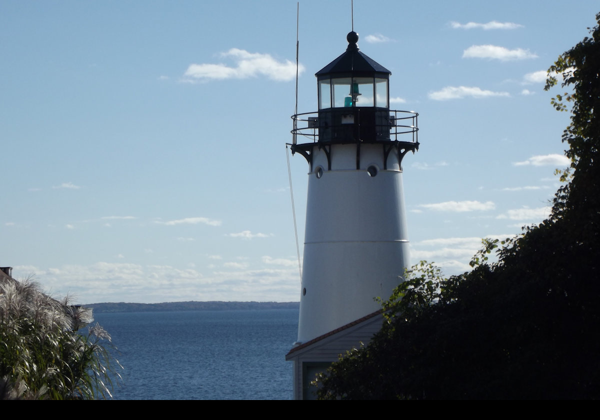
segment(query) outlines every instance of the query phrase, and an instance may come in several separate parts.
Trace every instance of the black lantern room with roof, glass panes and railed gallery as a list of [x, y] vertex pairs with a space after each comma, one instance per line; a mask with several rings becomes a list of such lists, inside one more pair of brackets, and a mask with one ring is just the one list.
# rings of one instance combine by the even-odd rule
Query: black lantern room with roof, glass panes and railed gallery
[[[418, 113], [389, 109], [391, 71], [358, 49], [356, 32], [350, 32], [346, 40], [346, 52], [315, 74], [319, 110], [292, 116], [292, 152], [307, 158], [311, 169], [315, 143], [319, 148], [383, 143], [388, 145], [388, 151], [393, 143], [394, 148], [401, 150], [399, 159], [419, 147]], [[398, 134], [404, 133], [412, 133], [412, 141], [399, 142]], [[313, 142], [299, 142], [298, 135]], [[329, 151], [326, 153], [329, 156]]]

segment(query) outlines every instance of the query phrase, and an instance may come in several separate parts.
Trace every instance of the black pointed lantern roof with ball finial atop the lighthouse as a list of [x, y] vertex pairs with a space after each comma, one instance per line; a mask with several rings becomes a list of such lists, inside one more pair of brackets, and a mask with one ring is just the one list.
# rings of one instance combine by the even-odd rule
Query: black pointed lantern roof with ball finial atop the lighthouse
[[392, 74], [391, 71], [359, 51], [358, 45], [356, 45], [358, 42], [356, 32], [350, 32], [346, 39], [348, 40], [346, 52], [317, 71], [314, 74], [317, 79], [325, 79], [326, 76], [389, 78], [389, 75]]

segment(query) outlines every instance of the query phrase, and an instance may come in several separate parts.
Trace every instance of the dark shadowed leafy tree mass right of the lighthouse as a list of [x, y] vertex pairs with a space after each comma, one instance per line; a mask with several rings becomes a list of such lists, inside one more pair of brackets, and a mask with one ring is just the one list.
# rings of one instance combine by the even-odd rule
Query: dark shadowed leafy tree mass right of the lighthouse
[[[383, 302], [367, 347], [317, 378], [320, 398], [600, 398], [600, 14], [548, 70], [572, 105], [571, 167], [538, 226], [484, 241], [473, 270], [443, 278], [421, 262]], [[497, 253], [497, 262], [488, 256]]]

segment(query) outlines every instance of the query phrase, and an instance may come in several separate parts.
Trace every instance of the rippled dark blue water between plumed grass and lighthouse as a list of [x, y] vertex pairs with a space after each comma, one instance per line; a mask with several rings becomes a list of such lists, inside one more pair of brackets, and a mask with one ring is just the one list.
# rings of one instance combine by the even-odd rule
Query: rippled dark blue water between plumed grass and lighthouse
[[124, 367], [115, 400], [289, 400], [298, 310], [95, 313]]

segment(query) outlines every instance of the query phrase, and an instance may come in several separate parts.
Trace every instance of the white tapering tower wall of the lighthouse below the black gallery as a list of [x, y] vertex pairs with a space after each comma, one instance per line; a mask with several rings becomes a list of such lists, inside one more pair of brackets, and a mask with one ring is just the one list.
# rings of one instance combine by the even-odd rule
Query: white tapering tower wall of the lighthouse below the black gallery
[[[409, 263], [397, 154], [388, 157], [388, 170], [381, 145], [361, 145], [358, 170], [356, 145], [333, 146], [331, 158], [327, 170], [325, 153], [315, 148], [308, 175], [300, 343], [378, 310], [373, 299], [389, 298]], [[368, 175], [371, 165], [376, 176]]]

